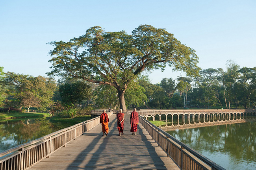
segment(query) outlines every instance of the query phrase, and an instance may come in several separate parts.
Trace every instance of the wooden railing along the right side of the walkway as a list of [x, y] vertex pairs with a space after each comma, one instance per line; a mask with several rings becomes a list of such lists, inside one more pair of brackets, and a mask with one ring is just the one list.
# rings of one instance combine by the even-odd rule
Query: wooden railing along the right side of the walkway
[[139, 122], [182, 170], [225, 170], [140, 115]]

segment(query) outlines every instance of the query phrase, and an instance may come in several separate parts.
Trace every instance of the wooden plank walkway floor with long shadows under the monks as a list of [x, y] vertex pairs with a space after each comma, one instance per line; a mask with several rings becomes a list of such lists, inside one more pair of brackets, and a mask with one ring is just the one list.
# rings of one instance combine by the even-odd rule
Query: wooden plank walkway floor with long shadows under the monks
[[109, 135], [101, 131], [100, 124], [30, 170], [179, 170], [141, 124], [132, 135], [130, 115], [125, 115], [124, 135], [118, 136], [116, 115], [109, 118]]

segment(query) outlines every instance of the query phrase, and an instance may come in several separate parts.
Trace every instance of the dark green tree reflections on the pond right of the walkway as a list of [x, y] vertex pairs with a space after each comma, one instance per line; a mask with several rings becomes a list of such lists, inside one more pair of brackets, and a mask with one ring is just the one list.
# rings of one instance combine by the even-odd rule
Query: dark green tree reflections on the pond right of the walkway
[[236, 159], [256, 160], [256, 122], [168, 131], [197, 152], [230, 153]]

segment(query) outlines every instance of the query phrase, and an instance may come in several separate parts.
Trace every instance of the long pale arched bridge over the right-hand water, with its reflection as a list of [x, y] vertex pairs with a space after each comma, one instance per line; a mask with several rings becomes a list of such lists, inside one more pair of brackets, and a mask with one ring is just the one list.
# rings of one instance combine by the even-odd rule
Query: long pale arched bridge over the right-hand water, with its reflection
[[[165, 121], [163, 130], [187, 129], [256, 121], [255, 109], [140, 110], [147, 120]], [[171, 122], [167, 123], [167, 119]]]

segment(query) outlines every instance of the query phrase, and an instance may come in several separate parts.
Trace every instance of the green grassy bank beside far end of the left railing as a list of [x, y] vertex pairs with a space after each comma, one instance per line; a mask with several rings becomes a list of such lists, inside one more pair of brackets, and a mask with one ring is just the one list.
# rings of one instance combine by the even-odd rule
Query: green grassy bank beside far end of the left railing
[[59, 117], [59, 116], [53, 116], [50, 119], [50, 122], [52, 122], [54, 124], [63, 124], [63, 125], [72, 126], [72, 125], [78, 124], [80, 122], [89, 120], [89, 119], [91, 119], [91, 115], [77, 116], [77, 117], [74, 117], [74, 118], [62, 118], [62, 117]]

